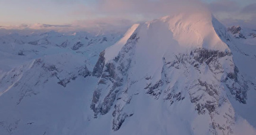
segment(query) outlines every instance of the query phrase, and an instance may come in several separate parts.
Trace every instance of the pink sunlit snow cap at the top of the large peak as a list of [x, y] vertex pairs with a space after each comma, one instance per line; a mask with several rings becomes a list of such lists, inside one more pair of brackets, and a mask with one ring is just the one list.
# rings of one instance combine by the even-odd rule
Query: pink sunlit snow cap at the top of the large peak
[[[167, 23], [168, 29], [173, 33], [173, 39], [183, 47], [200, 47], [225, 51], [228, 49], [216, 29], [224, 26], [208, 13], [177, 14], [160, 18], [158, 21]], [[154, 22], [154, 21], [153, 21]]]

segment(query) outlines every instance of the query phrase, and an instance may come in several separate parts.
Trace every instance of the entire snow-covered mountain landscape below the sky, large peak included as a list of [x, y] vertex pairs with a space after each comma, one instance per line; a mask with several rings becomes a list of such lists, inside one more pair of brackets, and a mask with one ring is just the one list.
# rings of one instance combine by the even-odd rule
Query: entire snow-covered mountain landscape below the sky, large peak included
[[254, 33], [195, 13], [1, 37], [0, 132], [256, 134]]

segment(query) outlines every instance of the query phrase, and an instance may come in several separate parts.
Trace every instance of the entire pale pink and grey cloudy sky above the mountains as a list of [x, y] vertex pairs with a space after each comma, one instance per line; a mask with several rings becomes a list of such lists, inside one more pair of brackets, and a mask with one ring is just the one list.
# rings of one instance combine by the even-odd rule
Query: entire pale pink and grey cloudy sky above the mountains
[[256, 28], [255, 0], [0, 0], [0, 28], [121, 30], [180, 11]]

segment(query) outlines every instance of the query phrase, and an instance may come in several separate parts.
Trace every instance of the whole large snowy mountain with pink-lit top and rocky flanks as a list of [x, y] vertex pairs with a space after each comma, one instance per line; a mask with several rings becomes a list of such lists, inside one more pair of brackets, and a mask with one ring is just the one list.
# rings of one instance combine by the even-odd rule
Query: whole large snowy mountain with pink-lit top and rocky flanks
[[129, 130], [138, 120], [132, 134], [233, 134], [229, 99], [245, 104], [254, 84], [239, 73], [232, 39], [216, 18], [179, 14], [133, 31], [113, 59], [108, 53], [115, 46], [93, 69], [99, 77], [90, 106], [95, 117], [111, 112], [114, 131]]

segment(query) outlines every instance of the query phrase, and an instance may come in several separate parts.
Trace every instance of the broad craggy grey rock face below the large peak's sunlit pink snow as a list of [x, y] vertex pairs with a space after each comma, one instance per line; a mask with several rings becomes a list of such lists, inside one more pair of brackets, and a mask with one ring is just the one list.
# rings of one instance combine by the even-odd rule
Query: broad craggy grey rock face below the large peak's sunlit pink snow
[[[176, 58], [175, 61], [171, 62], [166, 61], [164, 58], [165, 64], [162, 74], [164, 74], [163, 80], [166, 80], [166, 85], [173, 81], [168, 74], [172, 72], [179, 73], [179, 70], [182, 71], [182, 69], [185, 70], [185, 76], [188, 80], [182, 86], [189, 84], [185, 87], [185, 91], [188, 91], [191, 102], [195, 103], [195, 110], [198, 111], [198, 114], [204, 115], [208, 113], [211, 116], [211, 132], [213, 134], [216, 131], [232, 134], [235, 112], [227, 96], [223, 95], [223, 91], [227, 87], [236, 100], [241, 103], [246, 103], [246, 92], [248, 91], [246, 82], [238, 74], [238, 69], [235, 65], [233, 65], [232, 54], [230, 52], [195, 49], [190, 54], [180, 54]], [[229, 66], [229, 71], [225, 71], [224, 63], [229, 64], [227, 65]], [[193, 67], [194, 69], [192, 70]], [[197, 77], [194, 76], [195, 74]], [[165, 99], [169, 100], [171, 104], [186, 98], [182, 96], [185, 95], [184, 90], [179, 91], [180, 88], [177, 86], [179, 81], [173, 83], [174, 86], [170, 86], [164, 91]], [[220, 114], [221, 106], [229, 106], [229, 111]], [[218, 115], [223, 115], [226, 123], [216, 121], [215, 119]]]

